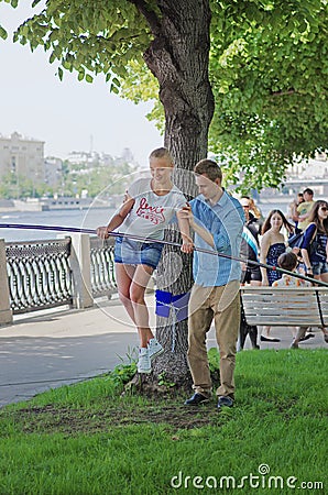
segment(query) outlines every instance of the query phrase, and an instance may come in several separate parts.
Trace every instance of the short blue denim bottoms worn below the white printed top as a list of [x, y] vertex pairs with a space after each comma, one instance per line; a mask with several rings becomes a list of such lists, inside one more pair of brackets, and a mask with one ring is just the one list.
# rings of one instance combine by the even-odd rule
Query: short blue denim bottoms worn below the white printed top
[[161, 242], [139, 242], [128, 238], [117, 238], [114, 262], [124, 265], [149, 265], [156, 268], [164, 244]]

